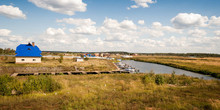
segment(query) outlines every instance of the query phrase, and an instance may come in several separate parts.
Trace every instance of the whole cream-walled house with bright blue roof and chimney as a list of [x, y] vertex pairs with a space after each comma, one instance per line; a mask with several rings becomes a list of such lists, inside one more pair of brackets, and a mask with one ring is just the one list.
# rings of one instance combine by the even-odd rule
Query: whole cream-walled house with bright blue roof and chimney
[[34, 44], [20, 44], [15, 51], [15, 63], [41, 63], [41, 50]]

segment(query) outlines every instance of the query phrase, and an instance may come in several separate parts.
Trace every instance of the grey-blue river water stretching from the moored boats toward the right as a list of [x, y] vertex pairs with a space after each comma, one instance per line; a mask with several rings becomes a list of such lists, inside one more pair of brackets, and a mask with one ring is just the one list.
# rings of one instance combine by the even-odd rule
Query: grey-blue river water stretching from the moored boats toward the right
[[177, 75], [182, 75], [185, 74], [186, 76], [192, 76], [192, 77], [198, 77], [198, 78], [203, 78], [203, 79], [216, 79], [211, 76], [207, 75], [202, 75], [198, 74], [195, 72], [191, 71], [186, 71], [182, 69], [177, 69], [173, 68], [170, 66], [165, 66], [165, 65], [160, 65], [160, 64], [155, 64], [155, 63], [147, 63], [147, 62], [139, 62], [139, 61], [134, 61], [134, 60], [123, 60], [122, 63], [128, 64], [140, 71], [140, 73], [149, 73], [150, 71], [154, 71], [156, 74], [163, 74], [163, 73], [172, 73], [175, 71]]

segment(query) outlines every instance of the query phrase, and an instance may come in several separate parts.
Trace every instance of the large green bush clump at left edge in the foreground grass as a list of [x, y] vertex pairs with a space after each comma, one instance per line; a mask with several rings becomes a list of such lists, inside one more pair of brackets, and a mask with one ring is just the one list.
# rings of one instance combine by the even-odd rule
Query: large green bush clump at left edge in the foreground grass
[[33, 91], [53, 92], [61, 85], [49, 76], [30, 76], [23, 83], [8, 75], [0, 76], [0, 95], [28, 94]]

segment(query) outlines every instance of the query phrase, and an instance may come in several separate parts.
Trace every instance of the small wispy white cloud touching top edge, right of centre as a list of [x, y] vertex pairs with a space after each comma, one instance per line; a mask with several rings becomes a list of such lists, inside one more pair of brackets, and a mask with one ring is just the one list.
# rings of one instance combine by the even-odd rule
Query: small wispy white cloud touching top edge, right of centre
[[139, 8], [139, 7], [148, 8], [149, 7], [148, 4], [156, 3], [156, 0], [132, 0], [132, 1], [134, 1], [136, 5], [130, 6], [131, 8]]

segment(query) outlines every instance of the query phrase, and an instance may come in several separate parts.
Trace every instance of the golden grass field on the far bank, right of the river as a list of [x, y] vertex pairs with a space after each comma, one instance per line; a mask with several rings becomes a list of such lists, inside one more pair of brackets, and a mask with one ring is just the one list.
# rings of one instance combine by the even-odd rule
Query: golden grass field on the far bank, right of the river
[[136, 61], [164, 64], [220, 78], [220, 58], [191, 58], [177, 56], [136, 56]]

